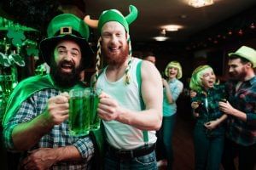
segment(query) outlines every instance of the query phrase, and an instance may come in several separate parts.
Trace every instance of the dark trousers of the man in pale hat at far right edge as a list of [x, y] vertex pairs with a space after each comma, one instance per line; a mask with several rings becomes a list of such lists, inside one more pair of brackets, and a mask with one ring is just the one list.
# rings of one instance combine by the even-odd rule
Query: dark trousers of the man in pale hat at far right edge
[[234, 159], [238, 156], [239, 170], [253, 170], [256, 166], [256, 144], [242, 146], [225, 139], [222, 164], [225, 170], [236, 170]]

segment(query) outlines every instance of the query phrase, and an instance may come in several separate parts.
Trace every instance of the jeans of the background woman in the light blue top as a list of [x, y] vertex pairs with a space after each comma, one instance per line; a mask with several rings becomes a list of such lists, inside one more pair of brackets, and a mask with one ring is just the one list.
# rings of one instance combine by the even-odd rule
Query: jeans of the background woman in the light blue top
[[158, 142], [160, 147], [158, 147], [162, 151], [163, 158], [167, 160], [167, 169], [172, 169], [173, 163], [173, 149], [172, 149], [172, 136], [174, 125], [176, 122], [176, 114], [172, 116], [163, 116], [162, 127], [160, 128], [160, 132], [158, 133]]

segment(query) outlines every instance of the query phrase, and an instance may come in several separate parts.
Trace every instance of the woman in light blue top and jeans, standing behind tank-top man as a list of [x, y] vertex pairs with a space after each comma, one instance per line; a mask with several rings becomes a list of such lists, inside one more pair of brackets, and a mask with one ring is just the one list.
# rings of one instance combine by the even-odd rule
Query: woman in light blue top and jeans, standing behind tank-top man
[[163, 100], [163, 122], [160, 128], [161, 150], [167, 161], [167, 169], [172, 169], [173, 150], [172, 134], [177, 112], [176, 100], [183, 91], [183, 82], [180, 79], [183, 75], [182, 67], [177, 61], [172, 61], [166, 66], [165, 74], [167, 79], [163, 80], [164, 100]]

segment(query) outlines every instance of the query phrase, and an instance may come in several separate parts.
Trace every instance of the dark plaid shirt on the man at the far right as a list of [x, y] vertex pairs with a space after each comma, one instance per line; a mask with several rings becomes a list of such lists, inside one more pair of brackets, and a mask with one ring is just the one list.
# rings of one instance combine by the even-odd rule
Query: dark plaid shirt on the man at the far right
[[235, 81], [226, 83], [229, 102], [234, 108], [247, 114], [247, 121], [229, 116], [227, 137], [244, 146], [256, 144], [256, 77], [243, 82], [237, 92], [236, 84]]

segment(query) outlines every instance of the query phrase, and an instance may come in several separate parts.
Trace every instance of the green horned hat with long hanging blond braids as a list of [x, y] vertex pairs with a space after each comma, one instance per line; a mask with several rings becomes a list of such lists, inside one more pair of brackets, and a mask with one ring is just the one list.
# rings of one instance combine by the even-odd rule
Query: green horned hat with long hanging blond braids
[[[137, 19], [137, 8], [133, 5], [129, 6], [130, 9], [130, 14], [127, 14], [127, 16], [124, 16], [123, 14], [121, 14], [119, 12], [119, 10], [117, 9], [109, 9], [109, 10], [105, 10], [102, 12], [102, 14], [100, 15], [99, 20], [90, 20], [90, 15], [86, 15], [84, 17], [84, 22], [92, 27], [92, 28], [97, 28], [98, 33], [101, 35], [102, 33], [102, 27], [110, 21], [116, 21], [119, 22], [119, 24], [121, 24], [122, 26], [124, 26], [125, 31], [127, 33], [127, 42], [129, 44], [129, 62], [128, 62], [128, 66], [125, 70], [125, 84], [129, 84], [130, 83], [130, 79], [131, 77], [129, 77], [128, 72], [130, 70], [131, 67], [131, 38], [130, 38], [130, 34], [129, 34], [129, 25]], [[102, 38], [100, 37], [97, 43], [97, 54], [96, 54], [96, 76], [95, 76], [95, 80], [94, 80], [94, 85], [96, 84], [97, 78], [98, 78], [98, 71], [99, 71], [99, 66], [100, 66], [100, 55], [101, 55], [101, 41]]]

